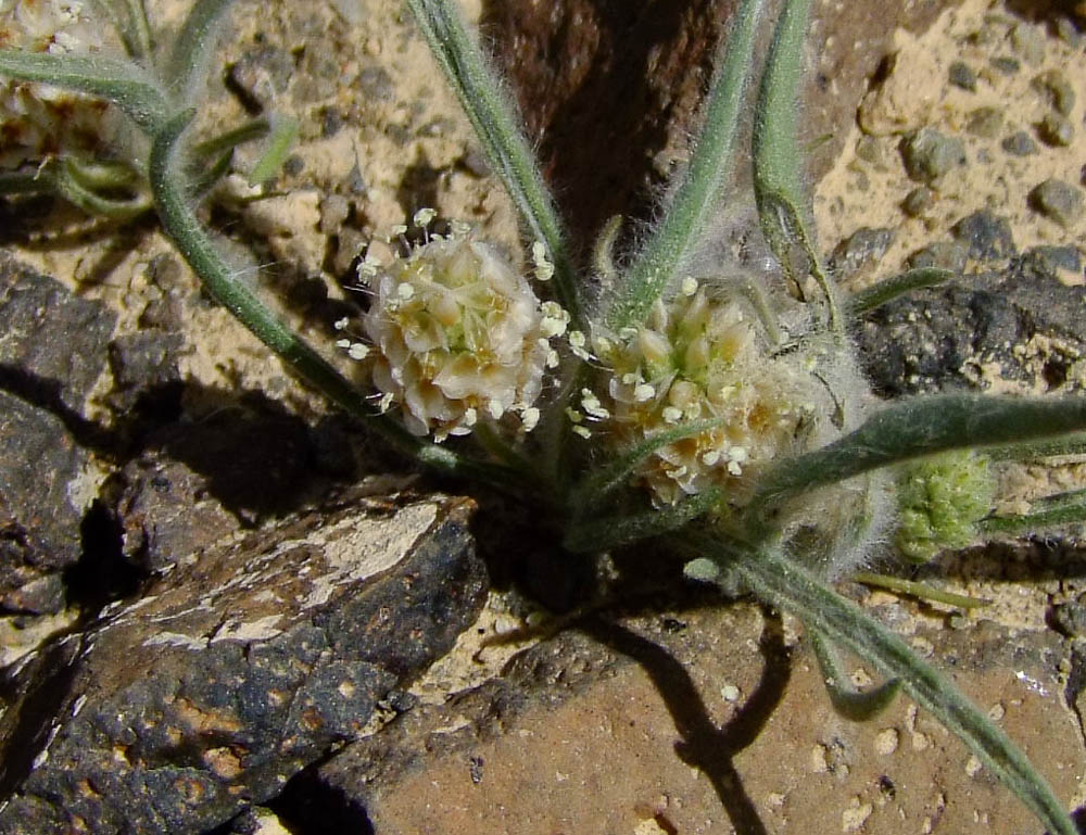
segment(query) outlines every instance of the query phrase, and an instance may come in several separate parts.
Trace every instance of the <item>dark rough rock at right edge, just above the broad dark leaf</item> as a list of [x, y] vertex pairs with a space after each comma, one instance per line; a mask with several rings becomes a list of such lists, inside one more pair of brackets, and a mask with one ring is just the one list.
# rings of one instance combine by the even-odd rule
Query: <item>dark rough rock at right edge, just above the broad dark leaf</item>
[[[1045, 260], [1024, 257], [897, 299], [874, 311], [857, 338], [868, 375], [886, 394], [972, 385], [989, 364], [1005, 379], [1058, 388], [1086, 354], [1084, 308], [1086, 288], [1068, 287]], [[1064, 346], [1044, 360], [1039, 381], [1037, 357], [1022, 350], [1037, 336]]]

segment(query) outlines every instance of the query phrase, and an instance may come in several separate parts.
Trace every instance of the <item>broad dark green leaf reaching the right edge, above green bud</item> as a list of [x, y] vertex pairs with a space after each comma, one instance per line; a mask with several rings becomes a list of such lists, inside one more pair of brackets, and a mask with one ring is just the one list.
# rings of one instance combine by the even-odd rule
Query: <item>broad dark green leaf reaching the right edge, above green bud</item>
[[782, 460], [752, 507], [889, 464], [961, 447], [1018, 444], [1086, 429], [1086, 397], [943, 394], [895, 403], [832, 444]]

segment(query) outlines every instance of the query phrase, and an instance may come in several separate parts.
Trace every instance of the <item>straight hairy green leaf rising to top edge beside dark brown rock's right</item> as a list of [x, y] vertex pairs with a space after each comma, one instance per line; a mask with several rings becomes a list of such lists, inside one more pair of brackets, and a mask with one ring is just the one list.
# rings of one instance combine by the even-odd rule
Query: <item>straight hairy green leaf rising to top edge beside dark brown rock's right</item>
[[705, 103], [705, 126], [659, 226], [627, 270], [607, 312], [614, 331], [640, 325], [686, 266], [714, 225], [724, 187], [732, 175], [740, 109], [755, 66], [754, 42], [763, 0], [743, 0], [732, 15], [733, 28], [721, 43], [717, 71]]

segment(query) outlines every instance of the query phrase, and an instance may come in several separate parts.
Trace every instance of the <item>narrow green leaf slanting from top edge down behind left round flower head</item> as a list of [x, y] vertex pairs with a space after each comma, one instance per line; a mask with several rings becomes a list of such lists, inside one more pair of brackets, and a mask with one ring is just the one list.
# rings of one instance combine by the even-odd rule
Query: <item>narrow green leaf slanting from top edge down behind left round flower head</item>
[[475, 128], [491, 166], [555, 267], [554, 286], [579, 330], [589, 332], [572, 255], [554, 200], [543, 185], [521, 119], [451, 0], [407, 0], [430, 51]]

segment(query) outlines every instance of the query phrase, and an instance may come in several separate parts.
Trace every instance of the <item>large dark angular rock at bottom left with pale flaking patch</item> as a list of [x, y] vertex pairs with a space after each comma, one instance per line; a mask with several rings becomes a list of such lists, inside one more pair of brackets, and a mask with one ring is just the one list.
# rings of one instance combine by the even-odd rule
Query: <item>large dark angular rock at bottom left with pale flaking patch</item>
[[42, 647], [0, 716], [0, 833], [194, 833], [276, 795], [475, 619], [471, 509], [345, 496]]

